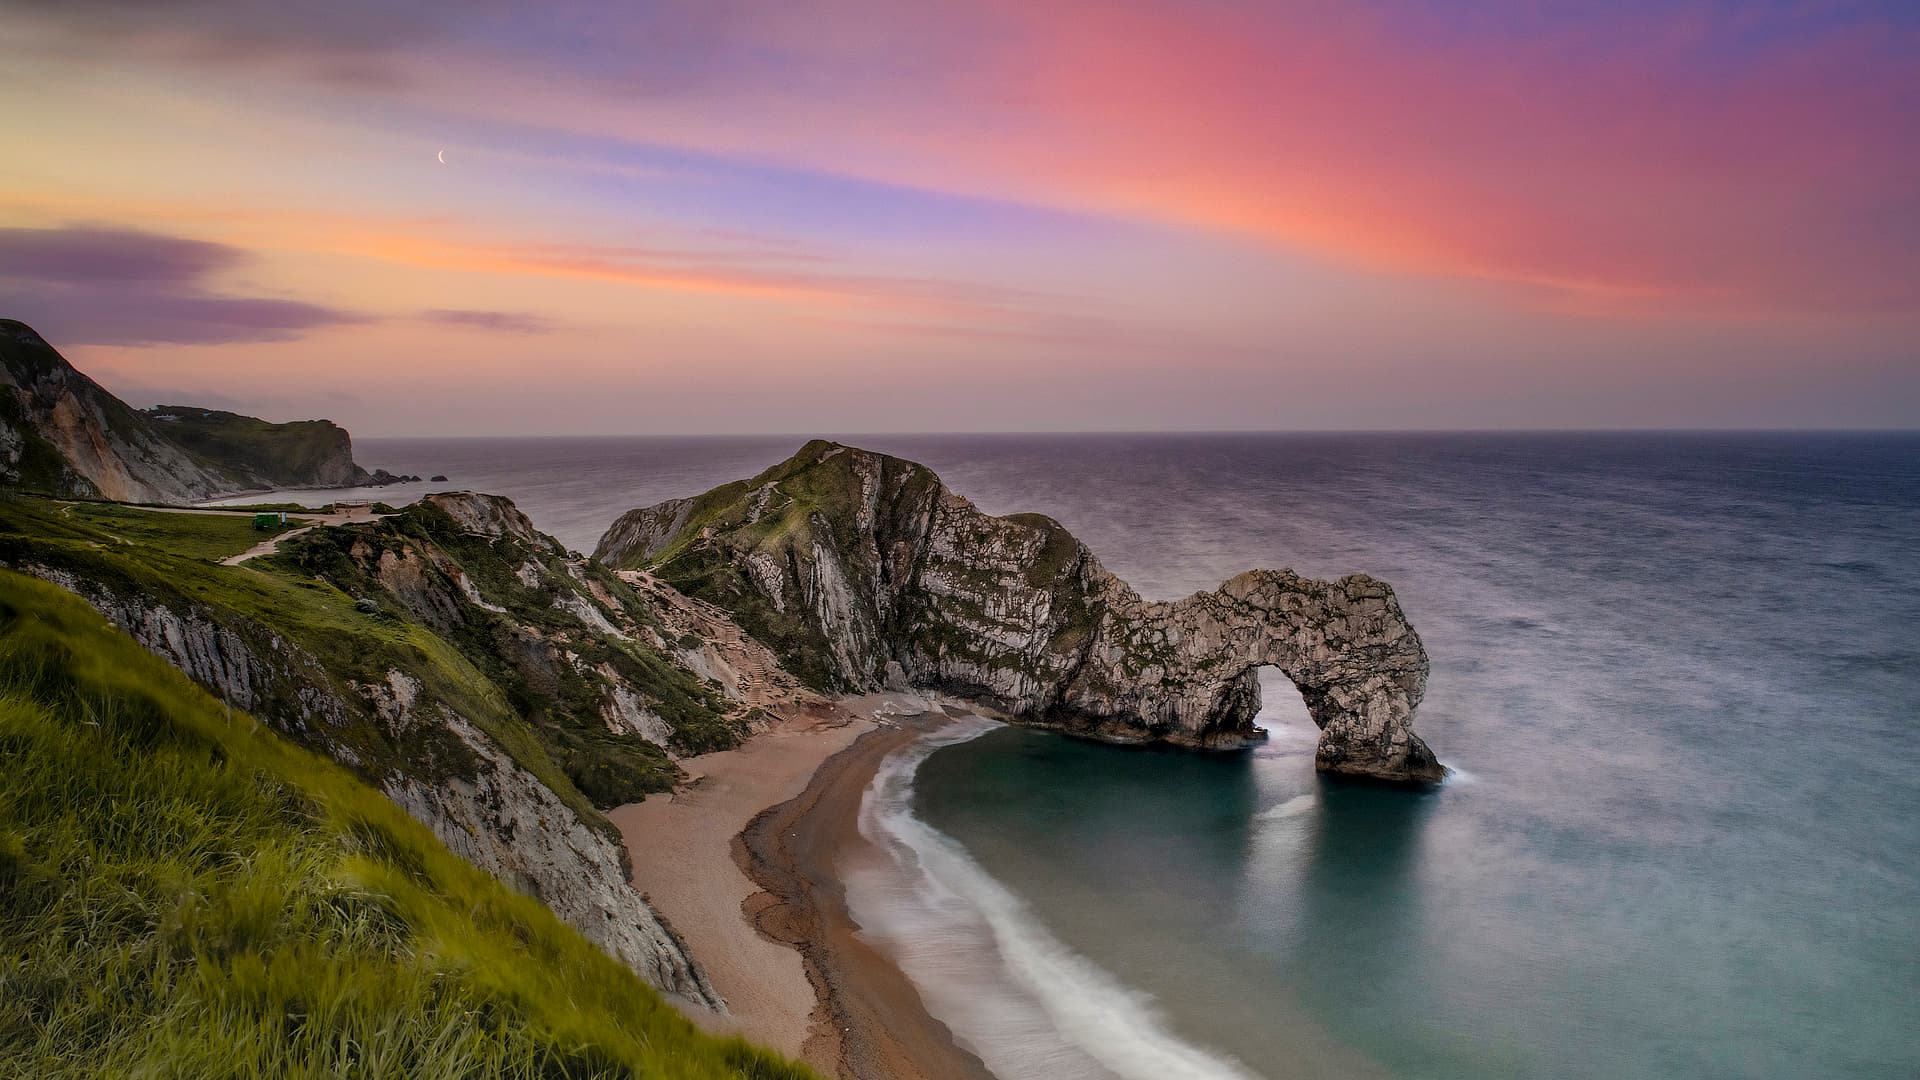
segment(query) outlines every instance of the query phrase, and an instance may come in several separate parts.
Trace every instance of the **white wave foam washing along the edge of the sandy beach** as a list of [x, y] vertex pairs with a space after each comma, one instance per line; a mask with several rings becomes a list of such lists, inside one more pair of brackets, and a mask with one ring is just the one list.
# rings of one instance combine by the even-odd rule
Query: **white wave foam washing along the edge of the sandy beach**
[[860, 832], [893, 855], [899, 878], [849, 878], [860, 922], [895, 947], [929, 1005], [1006, 1080], [1252, 1080], [1236, 1061], [1173, 1034], [1150, 995], [1054, 938], [958, 842], [914, 817], [920, 763], [995, 726], [962, 721], [876, 774]]

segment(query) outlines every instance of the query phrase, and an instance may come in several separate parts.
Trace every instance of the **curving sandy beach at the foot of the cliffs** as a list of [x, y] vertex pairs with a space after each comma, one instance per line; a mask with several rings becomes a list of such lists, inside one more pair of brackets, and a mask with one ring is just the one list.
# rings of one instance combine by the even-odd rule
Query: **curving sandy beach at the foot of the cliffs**
[[831, 1076], [985, 1080], [904, 972], [860, 938], [841, 888], [839, 867], [877, 857], [858, 813], [879, 763], [947, 723], [904, 705], [881, 696], [795, 711], [737, 749], [684, 761], [691, 780], [678, 792], [609, 817], [636, 888], [728, 1001], [728, 1015], [697, 1022]]

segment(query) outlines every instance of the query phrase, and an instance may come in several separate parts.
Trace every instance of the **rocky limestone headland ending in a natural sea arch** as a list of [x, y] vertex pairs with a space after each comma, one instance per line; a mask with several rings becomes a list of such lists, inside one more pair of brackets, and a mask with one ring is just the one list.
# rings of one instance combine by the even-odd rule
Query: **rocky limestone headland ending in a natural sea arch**
[[924, 465], [810, 442], [622, 515], [597, 557], [733, 613], [822, 690], [912, 684], [1112, 742], [1261, 738], [1258, 669], [1300, 688], [1329, 774], [1432, 782], [1427, 651], [1384, 582], [1250, 571], [1146, 601], [1041, 515], [991, 517]]

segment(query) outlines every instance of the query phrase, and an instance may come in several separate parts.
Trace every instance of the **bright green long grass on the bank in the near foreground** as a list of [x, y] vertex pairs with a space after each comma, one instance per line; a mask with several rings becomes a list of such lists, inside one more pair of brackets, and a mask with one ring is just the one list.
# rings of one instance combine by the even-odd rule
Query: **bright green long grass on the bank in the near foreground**
[[0, 571], [0, 1074], [804, 1078]]

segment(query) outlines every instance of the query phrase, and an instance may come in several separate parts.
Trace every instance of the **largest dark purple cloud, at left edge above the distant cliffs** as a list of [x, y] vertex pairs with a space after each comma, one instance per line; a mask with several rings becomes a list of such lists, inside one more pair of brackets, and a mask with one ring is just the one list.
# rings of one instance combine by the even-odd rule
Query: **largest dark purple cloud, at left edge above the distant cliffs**
[[227, 244], [75, 225], [0, 229], [0, 311], [71, 344], [280, 342], [367, 317], [205, 286], [248, 254]]

